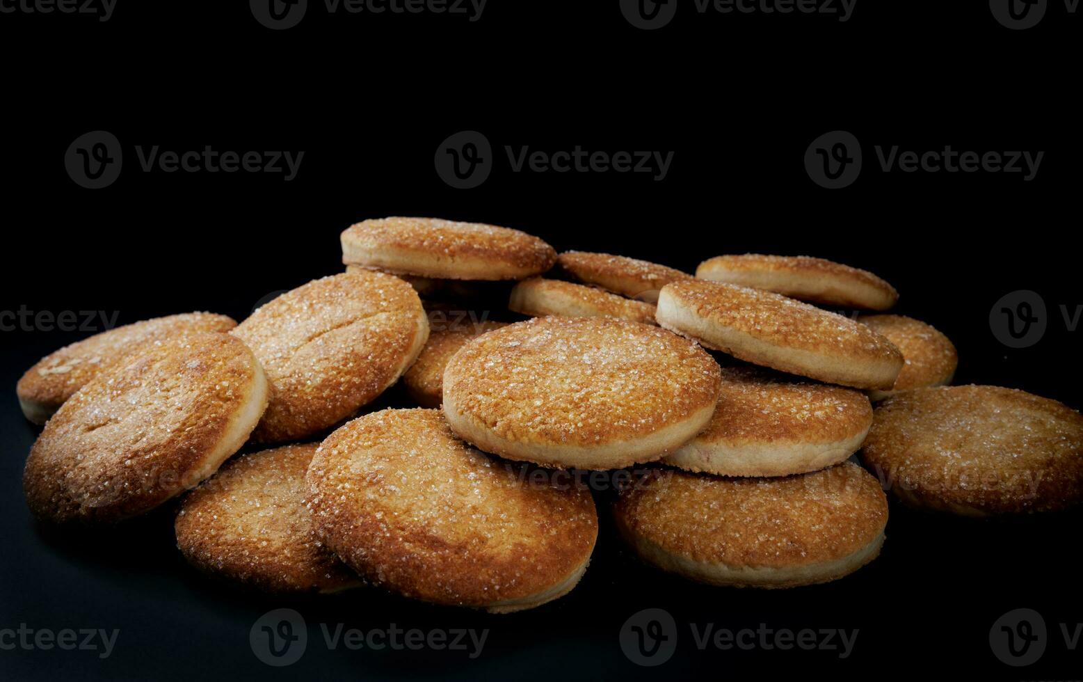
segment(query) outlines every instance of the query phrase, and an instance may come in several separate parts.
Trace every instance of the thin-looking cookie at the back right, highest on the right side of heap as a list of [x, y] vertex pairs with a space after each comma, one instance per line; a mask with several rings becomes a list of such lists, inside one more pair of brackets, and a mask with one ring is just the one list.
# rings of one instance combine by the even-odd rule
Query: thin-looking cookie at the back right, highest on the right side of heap
[[701, 262], [695, 276], [827, 306], [887, 310], [899, 300], [895, 287], [872, 272], [811, 256], [718, 256]]

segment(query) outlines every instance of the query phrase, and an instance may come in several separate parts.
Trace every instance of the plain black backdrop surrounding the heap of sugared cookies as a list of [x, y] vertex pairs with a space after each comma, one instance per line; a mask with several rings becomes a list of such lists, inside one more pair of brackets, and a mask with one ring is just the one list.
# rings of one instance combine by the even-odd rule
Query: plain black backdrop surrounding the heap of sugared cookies
[[[225, 5], [230, 7], [225, 7]], [[682, 4], [655, 31], [616, 1], [500, 2], [482, 18], [336, 15], [310, 7], [272, 31], [244, 2], [119, 0], [112, 21], [0, 14], [4, 147], [2, 310], [119, 311], [123, 324], [190, 310], [243, 319], [272, 292], [337, 272], [338, 233], [360, 219], [481, 220], [558, 249], [608, 250], [694, 269], [720, 253], [811, 254], [864, 267], [901, 292], [897, 312], [960, 349], [956, 383], [1014, 386], [1079, 409], [1079, 344], [1057, 306], [1083, 303], [1078, 278], [1079, 18], [1052, 2], [1012, 31], [987, 2], [858, 3], [819, 15], [696, 15]], [[590, 5], [590, 7], [580, 7]], [[88, 191], [66, 175], [68, 144], [90, 130], [121, 141], [125, 170]], [[668, 177], [513, 173], [473, 190], [436, 176], [447, 136], [482, 131], [545, 151], [674, 152]], [[803, 167], [830, 130], [862, 142], [864, 169], [837, 191]], [[298, 177], [143, 173], [135, 145], [177, 151], [305, 152]], [[884, 173], [874, 145], [1044, 151], [1038, 177]], [[1033, 289], [1049, 326], [1012, 350], [990, 331], [1004, 294]], [[22, 499], [36, 429], [14, 396], [22, 372], [86, 334], [0, 333], [0, 628], [120, 629], [116, 649], [0, 651], [4, 679], [321, 679], [647, 677], [729, 679], [814, 673], [1078, 679], [1060, 622], [1083, 620], [1079, 513], [973, 522], [892, 503], [876, 562], [826, 586], [760, 592], [665, 576], [625, 552], [604, 513], [593, 562], [566, 597], [511, 616], [419, 606], [370, 591], [325, 599], [246, 594], [191, 570], [171, 510], [110, 533], [55, 533]], [[381, 404], [393, 403], [392, 394]], [[290, 606], [310, 627], [304, 657], [261, 664], [248, 630]], [[622, 623], [661, 607], [676, 655], [640, 668]], [[989, 630], [1014, 608], [1049, 629], [1040, 662], [1010, 668]], [[317, 623], [364, 630], [491, 628], [483, 654], [327, 651]], [[860, 630], [853, 654], [699, 652], [689, 623]]]

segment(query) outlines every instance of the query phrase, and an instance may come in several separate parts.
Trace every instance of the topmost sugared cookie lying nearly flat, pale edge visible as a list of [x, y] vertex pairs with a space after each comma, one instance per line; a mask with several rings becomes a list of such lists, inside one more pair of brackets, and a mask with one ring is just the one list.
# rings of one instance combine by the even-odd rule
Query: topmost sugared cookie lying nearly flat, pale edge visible
[[380, 218], [342, 232], [342, 262], [446, 280], [521, 280], [552, 267], [557, 252], [536, 236], [436, 218]]

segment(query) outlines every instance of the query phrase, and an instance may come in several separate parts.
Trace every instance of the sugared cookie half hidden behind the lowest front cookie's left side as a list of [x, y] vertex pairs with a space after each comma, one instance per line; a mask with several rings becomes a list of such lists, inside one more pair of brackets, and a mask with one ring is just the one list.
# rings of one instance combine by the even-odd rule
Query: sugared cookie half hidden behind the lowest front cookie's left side
[[304, 474], [317, 443], [225, 463], [181, 502], [177, 546], [204, 572], [272, 592], [337, 592], [361, 583], [315, 537]]

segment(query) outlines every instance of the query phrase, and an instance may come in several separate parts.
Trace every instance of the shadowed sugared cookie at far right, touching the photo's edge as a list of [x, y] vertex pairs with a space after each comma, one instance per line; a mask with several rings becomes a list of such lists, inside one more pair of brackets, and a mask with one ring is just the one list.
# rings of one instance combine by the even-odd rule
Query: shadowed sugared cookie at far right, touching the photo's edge
[[1083, 500], [1083, 416], [1013, 388], [938, 386], [876, 408], [862, 456], [903, 502], [964, 516]]

